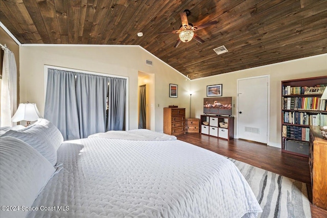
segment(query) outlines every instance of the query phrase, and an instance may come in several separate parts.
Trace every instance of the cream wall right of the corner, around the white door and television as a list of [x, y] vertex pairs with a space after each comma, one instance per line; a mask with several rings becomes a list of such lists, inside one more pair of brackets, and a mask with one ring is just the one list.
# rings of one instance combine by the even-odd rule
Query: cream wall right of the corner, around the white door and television
[[[237, 135], [237, 79], [270, 75], [270, 146], [281, 148], [281, 81], [327, 76], [327, 54], [245, 70], [230, 72], [191, 81], [192, 116], [203, 113], [203, 98], [206, 98], [206, 86], [223, 84], [223, 96], [232, 96], [233, 116], [235, 116], [235, 134]], [[255, 98], [255, 96], [253, 96]]]

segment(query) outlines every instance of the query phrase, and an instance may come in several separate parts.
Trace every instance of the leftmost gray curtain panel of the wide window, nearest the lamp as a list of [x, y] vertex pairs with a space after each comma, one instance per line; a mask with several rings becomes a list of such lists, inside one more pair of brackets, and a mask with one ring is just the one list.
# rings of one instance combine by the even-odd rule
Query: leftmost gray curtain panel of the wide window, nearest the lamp
[[64, 140], [80, 138], [74, 72], [48, 69], [44, 118], [60, 130]]

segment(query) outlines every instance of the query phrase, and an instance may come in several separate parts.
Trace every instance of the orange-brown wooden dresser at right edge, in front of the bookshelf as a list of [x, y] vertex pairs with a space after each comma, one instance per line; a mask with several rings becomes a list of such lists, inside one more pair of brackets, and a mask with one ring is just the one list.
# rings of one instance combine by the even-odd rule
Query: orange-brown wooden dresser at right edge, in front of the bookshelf
[[312, 203], [327, 210], [327, 140], [317, 126], [310, 126], [309, 166]]

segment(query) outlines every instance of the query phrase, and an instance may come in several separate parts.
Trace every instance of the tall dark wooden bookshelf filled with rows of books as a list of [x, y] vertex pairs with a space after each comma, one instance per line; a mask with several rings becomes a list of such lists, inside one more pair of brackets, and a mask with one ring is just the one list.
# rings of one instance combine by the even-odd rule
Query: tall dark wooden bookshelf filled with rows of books
[[327, 77], [282, 81], [282, 152], [309, 157], [310, 126], [327, 126]]

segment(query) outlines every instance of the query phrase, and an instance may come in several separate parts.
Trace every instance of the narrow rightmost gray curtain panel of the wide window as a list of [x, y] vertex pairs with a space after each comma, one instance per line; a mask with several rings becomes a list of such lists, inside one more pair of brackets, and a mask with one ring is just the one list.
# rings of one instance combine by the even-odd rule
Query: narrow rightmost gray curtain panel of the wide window
[[110, 78], [107, 130], [125, 130], [126, 81]]

